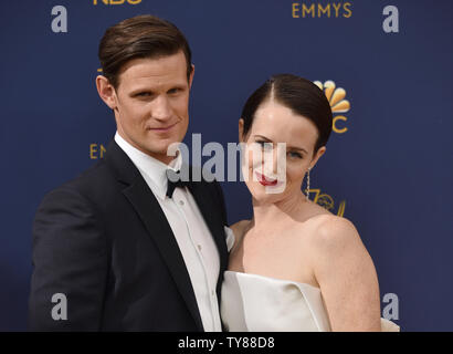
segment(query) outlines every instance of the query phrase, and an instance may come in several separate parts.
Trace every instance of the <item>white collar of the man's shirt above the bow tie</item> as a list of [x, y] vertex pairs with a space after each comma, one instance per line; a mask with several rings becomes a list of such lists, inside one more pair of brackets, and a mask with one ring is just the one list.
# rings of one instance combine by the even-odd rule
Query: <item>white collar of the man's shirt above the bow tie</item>
[[180, 149], [178, 148], [177, 150], [177, 157], [173, 158], [170, 164], [166, 165], [130, 145], [118, 134], [118, 132], [115, 134], [115, 142], [131, 159], [151, 190], [160, 199], [165, 199], [168, 185], [167, 169], [179, 170], [181, 168], [182, 156]]

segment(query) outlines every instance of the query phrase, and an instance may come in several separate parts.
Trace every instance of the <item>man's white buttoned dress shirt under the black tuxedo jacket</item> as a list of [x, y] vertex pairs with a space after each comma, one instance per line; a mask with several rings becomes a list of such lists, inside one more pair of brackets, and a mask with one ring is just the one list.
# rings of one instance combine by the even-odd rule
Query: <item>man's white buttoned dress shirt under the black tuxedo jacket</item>
[[115, 142], [138, 168], [167, 217], [189, 272], [204, 331], [222, 331], [215, 292], [220, 260], [211, 232], [187, 187], [178, 187], [172, 198], [167, 197], [166, 170], [180, 169], [181, 153], [166, 165], [131, 146], [118, 132]]

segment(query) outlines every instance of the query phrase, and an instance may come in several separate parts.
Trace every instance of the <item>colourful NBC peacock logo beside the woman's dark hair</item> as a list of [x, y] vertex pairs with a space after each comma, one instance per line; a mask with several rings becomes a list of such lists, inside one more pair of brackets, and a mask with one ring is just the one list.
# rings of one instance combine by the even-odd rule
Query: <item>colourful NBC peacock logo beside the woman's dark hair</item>
[[[331, 80], [326, 81], [324, 84], [320, 81], [314, 81], [314, 84], [317, 85], [320, 90], [324, 91], [331, 108], [331, 113], [334, 114], [334, 122], [331, 129], [337, 134], [344, 134], [348, 131], [345, 122], [348, 121], [344, 113], [349, 112], [350, 103], [346, 97], [346, 90], [343, 87], [337, 87], [335, 82]], [[344, 122], [343, 126], [339, 126], [340, 123], [338, 121]]]

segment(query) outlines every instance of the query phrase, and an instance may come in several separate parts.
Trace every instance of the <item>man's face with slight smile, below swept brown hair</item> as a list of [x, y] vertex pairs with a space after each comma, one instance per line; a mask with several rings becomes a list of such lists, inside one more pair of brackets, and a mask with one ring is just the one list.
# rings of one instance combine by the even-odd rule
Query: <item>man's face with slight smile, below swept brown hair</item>
[[127, 62], [109, 105], [119, 135], [145, 154], [165, 164], [171, 162], [175, 157], [167, 156], [167, 148], [182, 142], [188, 128], [192, 77], [193, 70], [188, 82], [182, 51]]

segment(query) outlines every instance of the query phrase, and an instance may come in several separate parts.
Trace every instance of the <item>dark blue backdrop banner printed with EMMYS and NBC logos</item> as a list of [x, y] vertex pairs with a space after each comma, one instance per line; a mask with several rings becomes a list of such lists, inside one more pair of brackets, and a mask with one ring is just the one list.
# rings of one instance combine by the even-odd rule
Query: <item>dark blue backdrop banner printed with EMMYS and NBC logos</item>
[[[238, 143], [242, 106], [272, 74], [324, 90], [334, 125], [310, 199], [355, 223], [383, 317], [453, 331], [451, 0], [1, 1], [0, 330], [27, 330], [40, 201], [102, 159], [115, 134], [95, 87], [98, 42], [147, 13], [173, 22], [192, 50], [191, 149]], [[220, 180], [233, 223], [252, 207], [229, 168]]]

